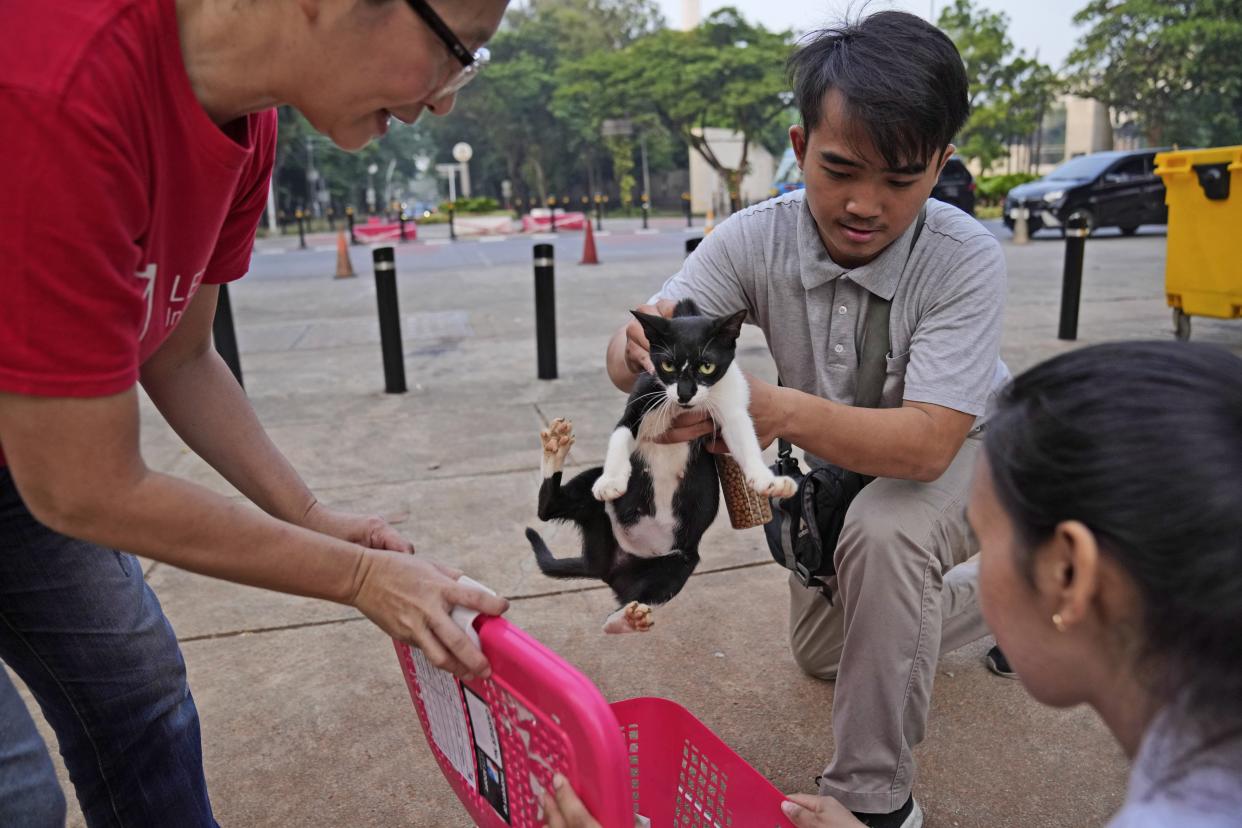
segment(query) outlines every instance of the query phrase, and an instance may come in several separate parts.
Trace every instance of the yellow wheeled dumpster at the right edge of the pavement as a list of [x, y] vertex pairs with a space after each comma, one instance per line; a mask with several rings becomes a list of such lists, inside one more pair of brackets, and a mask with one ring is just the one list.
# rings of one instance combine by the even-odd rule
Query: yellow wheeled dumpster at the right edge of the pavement
[[1242, 146], [1156, 155], [1169, 205], [1165, 295], [1177, 339], [1191, 317], [1242, 318]]

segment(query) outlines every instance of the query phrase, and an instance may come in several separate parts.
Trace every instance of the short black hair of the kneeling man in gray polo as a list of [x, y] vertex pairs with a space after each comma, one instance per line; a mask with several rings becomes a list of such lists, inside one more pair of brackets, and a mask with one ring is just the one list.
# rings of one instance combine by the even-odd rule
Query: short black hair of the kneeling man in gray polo
[[966, 67], [948, 35], [904, 11], [881, 11], [807, 35], [789, 58], [807, 133], [837, 89], [889, 169], [927, 165], [970, 114]]

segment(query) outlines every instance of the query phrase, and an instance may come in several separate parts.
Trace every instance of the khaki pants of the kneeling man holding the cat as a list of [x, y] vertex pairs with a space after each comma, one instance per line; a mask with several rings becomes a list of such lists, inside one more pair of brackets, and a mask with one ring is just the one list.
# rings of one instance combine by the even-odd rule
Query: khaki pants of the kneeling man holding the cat
[[846, 514], [830, 605], [790, 578], [790, 643], [810, 675], [836, 679], [836, 755], [820, 792], [851, 811], [888, 812], [914, 785], [940, 653], [987, 633], [977, 549], [966, 526], [982, 441], [965, 441], [932, 483], [877, 478]]

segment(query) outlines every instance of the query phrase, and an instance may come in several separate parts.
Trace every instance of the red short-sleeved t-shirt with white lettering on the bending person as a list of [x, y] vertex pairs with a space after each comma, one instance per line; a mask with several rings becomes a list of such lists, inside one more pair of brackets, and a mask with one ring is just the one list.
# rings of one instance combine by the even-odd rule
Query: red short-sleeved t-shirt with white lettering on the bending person
[[0, 4], [0, 391], [120, 392], [248, 268], [276, 112], [212, 123], [174, 2]]

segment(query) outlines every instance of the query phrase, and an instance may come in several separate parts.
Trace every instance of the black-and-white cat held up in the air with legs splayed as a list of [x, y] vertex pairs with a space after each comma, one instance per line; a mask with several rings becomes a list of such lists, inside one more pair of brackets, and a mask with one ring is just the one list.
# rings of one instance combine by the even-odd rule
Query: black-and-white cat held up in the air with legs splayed
[[746, 312], [713, 319], [683, 299], [672, 319], [632, 313], [651, 344], [655, 374], [635, 384], [602, 468], [561, 485], [573, 427], [558, 418], [540, 433], [539, 518], [576, 524], [582, 554], [558, 559], [539, 533], [527, 529], [544, 575], [600, 578], [612, 587], [621, 608], [605, 622], [609, 633], [651, 628], [651, 606], [666, 603], [686, 586], [699, 561], [699, 540], [720, 508], [709, 438], [655, 442], [673, 417], [705, 411], [759, 494], [784, 498], [796, 489], [794, 480], [774, 475], [764, 463], [749, 413], [750, 387], [733, 361]]

